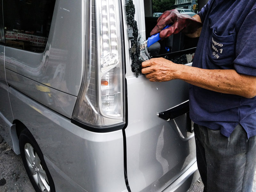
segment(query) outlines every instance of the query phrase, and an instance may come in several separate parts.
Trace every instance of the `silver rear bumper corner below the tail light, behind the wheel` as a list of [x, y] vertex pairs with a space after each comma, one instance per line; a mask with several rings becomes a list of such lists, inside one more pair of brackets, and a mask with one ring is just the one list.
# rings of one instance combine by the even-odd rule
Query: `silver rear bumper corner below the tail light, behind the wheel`
[[46, 161], [50, 170], [55, 170], [54, 184], [56, 189], [61, 189], [56, 191], [83, 188], [93, 192], [120, 192], [126, 189], [122, 130], [89, 132], [13, 88], [9, 93], [14, 119], [27, 126], [50, 161]]

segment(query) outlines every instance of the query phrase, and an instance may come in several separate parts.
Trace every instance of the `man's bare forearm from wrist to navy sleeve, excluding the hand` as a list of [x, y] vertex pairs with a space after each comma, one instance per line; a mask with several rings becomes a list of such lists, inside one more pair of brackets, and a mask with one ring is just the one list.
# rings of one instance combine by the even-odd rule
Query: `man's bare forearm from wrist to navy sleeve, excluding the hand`
[[256, 77], [238, 74], [233, 69], [201, 69], [179, 65], [174, 78], [215, 92], [252, 98], [256, 95]]

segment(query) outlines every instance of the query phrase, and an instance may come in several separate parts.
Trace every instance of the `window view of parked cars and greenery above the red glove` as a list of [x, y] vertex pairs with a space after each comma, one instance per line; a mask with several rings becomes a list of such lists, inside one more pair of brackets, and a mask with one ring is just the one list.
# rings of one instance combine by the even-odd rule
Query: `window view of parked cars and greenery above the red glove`
[[152, 0], [152, 4], [153, 17], [159, 17], [163, 12], [171, 9], [177, 9], [180, 13], [190, 16], [198, 13], [197, 0]]

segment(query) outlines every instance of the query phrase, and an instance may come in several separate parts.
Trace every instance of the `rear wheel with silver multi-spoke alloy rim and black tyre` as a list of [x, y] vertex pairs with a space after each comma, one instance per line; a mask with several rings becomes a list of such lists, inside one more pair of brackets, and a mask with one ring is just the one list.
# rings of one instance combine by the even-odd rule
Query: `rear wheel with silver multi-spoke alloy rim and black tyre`
[[55, 192], [51, 174], [33, 135], [24, 129], [19, 137], [20, 155], [36, 192]]

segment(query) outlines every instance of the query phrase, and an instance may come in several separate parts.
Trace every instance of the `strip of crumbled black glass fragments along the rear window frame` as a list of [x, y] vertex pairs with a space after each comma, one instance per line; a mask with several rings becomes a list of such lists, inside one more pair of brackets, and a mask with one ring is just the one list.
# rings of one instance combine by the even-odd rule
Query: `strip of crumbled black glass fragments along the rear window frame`
[[132, 0], [127, 0], [125, 4], [126, 22], [129, 25], [128, 36], [131, 41], [129, 49], [132, 59], [132, 72], [135, 72], [136, 77], [141, 73], [141, 63], [144, 61], [140, 58], [140, 37], [137, 26], [137, 21], [134, 20], [135, 7]]

